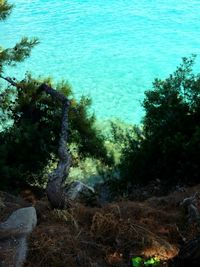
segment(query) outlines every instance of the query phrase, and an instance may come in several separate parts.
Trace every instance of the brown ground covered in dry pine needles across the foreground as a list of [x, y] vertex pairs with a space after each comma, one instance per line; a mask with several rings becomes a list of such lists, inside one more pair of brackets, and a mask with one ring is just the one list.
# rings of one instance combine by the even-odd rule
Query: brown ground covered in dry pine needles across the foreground
[[102, 207], [74, 203], [61, 211], [52, 210], [45, 197], [30, 194], [25, 201], [1, 192], [0, 219], [30, 205], [27, 200], [35, 206], [38, 223], [26, 267], [128, 267], [136, 256], [156, 256], [159, 266], [175, 266], [179, 249], [199, 232], [183, 200], [195, 196], [200, 211], [199, 194], [200, 185], [144, 201], [122, 199]]

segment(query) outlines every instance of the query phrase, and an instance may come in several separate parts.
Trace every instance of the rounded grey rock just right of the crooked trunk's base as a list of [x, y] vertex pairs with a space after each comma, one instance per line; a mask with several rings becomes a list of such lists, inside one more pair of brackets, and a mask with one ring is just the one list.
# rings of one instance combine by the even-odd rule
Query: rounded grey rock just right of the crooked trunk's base
[[71, 201], [80, 202], [88, 206], [98, 205], [98, 198], [95, 190], [80, 181], [69, 184], [65, 194], [67, 199]]

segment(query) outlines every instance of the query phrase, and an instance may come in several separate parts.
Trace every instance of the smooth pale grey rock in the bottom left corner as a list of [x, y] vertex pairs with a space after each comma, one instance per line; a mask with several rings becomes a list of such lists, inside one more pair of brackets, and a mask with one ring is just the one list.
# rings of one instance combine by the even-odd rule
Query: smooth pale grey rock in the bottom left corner
[[27, 254], [27, 237], [37, 224], [34, 207], [14, 211], [0, 223], [0, 266], [22, 267]]

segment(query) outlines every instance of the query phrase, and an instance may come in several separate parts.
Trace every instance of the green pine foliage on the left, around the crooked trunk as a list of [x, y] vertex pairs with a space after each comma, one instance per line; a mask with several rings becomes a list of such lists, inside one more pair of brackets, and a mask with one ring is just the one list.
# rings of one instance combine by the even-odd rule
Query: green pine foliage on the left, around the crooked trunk
[[[12, 6], [0, 5], [1, 19]], [[4, 68], [14, 66], [30, 55], [37, 39], [22, 39], [13, 48], [0, 50], [0, 75]], [[90, 100], [73, 97], [68, 83], [53, 84], [50, 79], [36, 80], [27, 74], [16, 86], [1, 85], [0, 186], [20, 188], [27, 183], [43, 182], [47, 165], [56, 162], [61, 127], [62, 106], [51, 96], [41, 93], [39, 85], [46, 82], [71, 100], [69, 109], [69, 146], [73, 144], [79, 157], [92, 156], [108, 160], [100, 132], [94, 127], [95, 117], [88, 114]], [[75, 161], [74, 161], [75, 162]]]

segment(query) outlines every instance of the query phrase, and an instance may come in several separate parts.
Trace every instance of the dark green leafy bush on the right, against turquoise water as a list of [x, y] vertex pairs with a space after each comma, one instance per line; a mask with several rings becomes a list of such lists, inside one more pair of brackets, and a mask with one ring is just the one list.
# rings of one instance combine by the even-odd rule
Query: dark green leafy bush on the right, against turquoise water
[[122, 183], [196, 183], [200, 177], [200, 74], [195, 57], [145, 93], [143, 130], [123, 150]]

